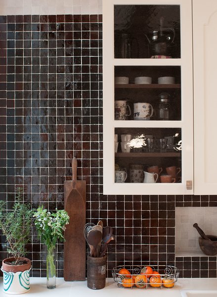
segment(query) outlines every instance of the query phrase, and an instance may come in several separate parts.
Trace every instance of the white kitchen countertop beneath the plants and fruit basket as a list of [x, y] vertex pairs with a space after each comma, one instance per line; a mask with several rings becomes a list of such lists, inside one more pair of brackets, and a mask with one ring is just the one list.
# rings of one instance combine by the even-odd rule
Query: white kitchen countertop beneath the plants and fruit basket
[[[148, 297], [184, 297], [183, 293], [187, 290], [197, 290], [204, 292], [203, 296], [209, 296], [210, 291], [216, 290], [217, 296], [217, 279], [216, 278], [194, 278], [194, 279], [178, 279], [172, 289], [121, 289], [113, 279], [106, 280], [106, 287], [101, 290], [91, 290], [87, 288], [87, 281], [85, 282], [65, 282], [62, 278], [57, 278], [56, 289], [46, 289], [46, 278], [31, 278], [31, 289], [26, 293], [25, 297], [140, 297], [146, 293]], [[2, 292], [2, 278], [0, 280], [0, 297], [9, 296]], [[21, 295], [13, 295], [18, 297]], [[194, 295], [197, 297], [197, 295]], [[201, 296], [201, 295], [198, 295]]]

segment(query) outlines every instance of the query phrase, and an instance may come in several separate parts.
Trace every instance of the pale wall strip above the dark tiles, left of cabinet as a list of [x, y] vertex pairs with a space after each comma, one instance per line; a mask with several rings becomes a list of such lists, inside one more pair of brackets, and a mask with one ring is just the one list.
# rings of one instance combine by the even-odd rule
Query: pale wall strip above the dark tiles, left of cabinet
[[102, 0], [0, 0], [0, 15], [102, 14]]

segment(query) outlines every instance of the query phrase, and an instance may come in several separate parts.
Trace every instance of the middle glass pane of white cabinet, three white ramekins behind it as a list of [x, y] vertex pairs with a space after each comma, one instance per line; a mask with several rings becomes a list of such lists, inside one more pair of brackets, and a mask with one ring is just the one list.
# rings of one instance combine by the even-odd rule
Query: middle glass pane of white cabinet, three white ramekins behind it
[[115, 120], [181, 120], [180, 66], [115, 66]]

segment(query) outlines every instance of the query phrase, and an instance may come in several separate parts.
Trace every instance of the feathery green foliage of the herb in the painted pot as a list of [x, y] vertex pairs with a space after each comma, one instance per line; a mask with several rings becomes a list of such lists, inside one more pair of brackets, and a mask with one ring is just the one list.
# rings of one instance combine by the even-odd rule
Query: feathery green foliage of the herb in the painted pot
[[31, 240], [33, 210], [30, 203], [24, 203], [23, 188], [16, 189], [15, 202], [12, 210], [6, 210], [6, 202], [0, 201], [0, 229], [6, 237], [7, 251], [15, 258], [16, 265], [25, 256], [25, 245]]

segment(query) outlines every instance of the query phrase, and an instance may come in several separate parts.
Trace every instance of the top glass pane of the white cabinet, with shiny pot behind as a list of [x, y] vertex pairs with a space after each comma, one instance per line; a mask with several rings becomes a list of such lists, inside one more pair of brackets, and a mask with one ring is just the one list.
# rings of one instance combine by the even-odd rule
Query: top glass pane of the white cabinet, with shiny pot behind
[[114, 5], [115, 58], [180, 58], [179, 5]]

